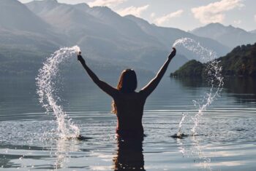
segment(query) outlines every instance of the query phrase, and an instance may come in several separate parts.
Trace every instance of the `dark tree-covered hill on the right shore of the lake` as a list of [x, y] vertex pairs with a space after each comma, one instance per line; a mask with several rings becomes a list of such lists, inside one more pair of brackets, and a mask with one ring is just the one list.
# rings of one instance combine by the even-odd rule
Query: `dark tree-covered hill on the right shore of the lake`
[[[224, 57], [217, 59], [222, 66], [223, 76], [252, 76], [256, 77], [256, 43], [234, 48]], [[190, 60], [170, 76], [201, 77], [207, 69], [207, 63]]]

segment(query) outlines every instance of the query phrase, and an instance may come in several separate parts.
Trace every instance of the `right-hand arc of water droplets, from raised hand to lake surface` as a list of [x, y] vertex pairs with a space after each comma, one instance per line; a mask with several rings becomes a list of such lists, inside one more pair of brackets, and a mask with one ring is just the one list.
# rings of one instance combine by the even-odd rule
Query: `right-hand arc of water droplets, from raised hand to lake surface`
[[[223, 87], [223, 76], [221, 74], [222, 67], [219, 65], [219, 61], [215, 60], [217, 58], [217, 53], [214, 52], [211, 49], [207, 49], [205, 47], [202, 47], [199, 42], [190, 39], [190, 38], [181, 38], [177, 39], [173, 47], [176, 47], [177, 45], [183, 45], [186, 49], [189, 49], [189, 51], [194, 52], [199, 58], [200, 62], [206, 63], [206, 71], [207, 71], [207, 79], [208, 84], [210, 85], [210, 90], [208, 93], [206, 93], [206, 96], [203, 98], [203, 104], [198, 103], [196, 100], [194, 101], [194, 105], [198, 106], [198, 112], [195, 115], [194, 119], [194, 126], [192, 127], [192, 135], [197, 134], [197, 127], [200, 122], [200, 116], [203, 115], [203, 111], [206, 111], [206, 108], [213, 103], [214, 100], [217, 99], [217, 96], [219, 96], [219, 92], [222, 91]], [[217, 89], [214, 92], [214, 87], [217, 87]], [[181, 127], [182, 123], [184, 122], [184, 119], [187, 115], [183, 115], [181, 118], [181, 122], [178, 126], [178, 133], [177, 135], [181, 135]]]

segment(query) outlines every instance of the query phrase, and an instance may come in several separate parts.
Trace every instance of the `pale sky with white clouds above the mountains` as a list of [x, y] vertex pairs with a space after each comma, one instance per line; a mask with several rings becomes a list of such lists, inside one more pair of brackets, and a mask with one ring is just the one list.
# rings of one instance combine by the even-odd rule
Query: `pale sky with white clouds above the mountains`
[[[27, 3], [32, 0], [19, 0]], [[107, 6], [119, 15], [135, 15], [155, 25], [191, 31], [208, 23], [256, 30], [255, 0], [58, 0]]]

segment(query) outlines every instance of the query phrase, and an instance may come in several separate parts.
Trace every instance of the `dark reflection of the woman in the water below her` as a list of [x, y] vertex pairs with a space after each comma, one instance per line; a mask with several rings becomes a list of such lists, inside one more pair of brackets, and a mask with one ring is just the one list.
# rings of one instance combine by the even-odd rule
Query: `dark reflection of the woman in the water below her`
[[113, 170], [145, 170], [143, 140], [117, 139], [117, 153], [113, 157]]

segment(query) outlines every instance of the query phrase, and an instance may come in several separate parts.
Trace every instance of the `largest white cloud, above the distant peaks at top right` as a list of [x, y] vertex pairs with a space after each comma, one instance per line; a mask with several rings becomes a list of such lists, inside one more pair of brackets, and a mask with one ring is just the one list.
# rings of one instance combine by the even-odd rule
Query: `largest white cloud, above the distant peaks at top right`
[[244, 7], [242, 0], [221, 0], [206, 6], [192, 8], [194, 17], [200, 20], [200, 23], [222, 23], [225, 19], [224, 12], [232, 9]]

